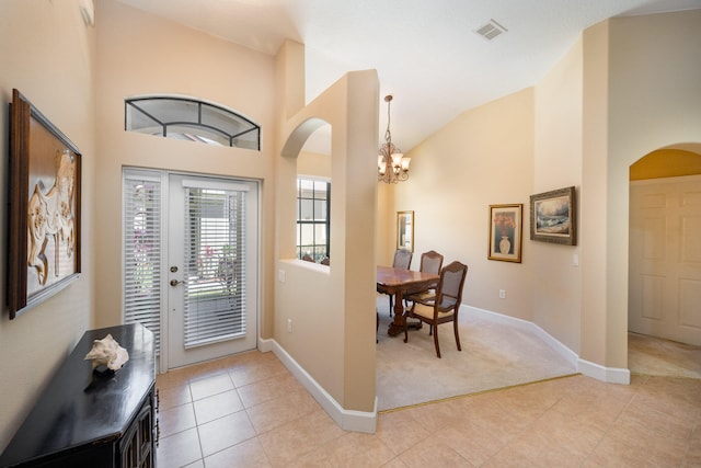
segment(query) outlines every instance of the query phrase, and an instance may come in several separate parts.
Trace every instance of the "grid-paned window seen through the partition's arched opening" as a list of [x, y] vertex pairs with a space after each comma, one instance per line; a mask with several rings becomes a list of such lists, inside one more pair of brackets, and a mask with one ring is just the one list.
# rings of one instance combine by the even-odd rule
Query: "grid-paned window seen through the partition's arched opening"
[[315, 262], [330, 258], [331, 183], [297, 179], [297, 258]]

